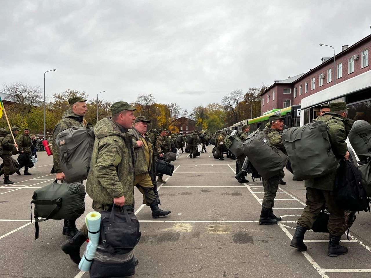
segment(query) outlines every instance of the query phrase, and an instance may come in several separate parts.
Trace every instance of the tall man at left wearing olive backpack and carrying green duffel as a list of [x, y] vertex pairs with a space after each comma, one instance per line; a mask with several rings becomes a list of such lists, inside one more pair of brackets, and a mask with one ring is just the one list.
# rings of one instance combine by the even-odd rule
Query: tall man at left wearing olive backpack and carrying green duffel
[[[56, 173], [55, 178], [59, 181], [65, 179], [65, 174], [60, 168], [59, 152], [56, 146], [56, 138], [60, 132], [70, 128], [71, 126], [83, 126], [82, 120], [88, 108], [86, 107], [86, 99], [82, 97], [71, 97], [68, 99], [70, 109], [68, 109], [53, 129], [52, 133], [52, 150], [53, 150], [53, 169]], [[45, 138], [44, 138], [45, 139]], [[62, 234], [73, 237], [78, 230], [76, 229], [76, 220], [65, 220]]]

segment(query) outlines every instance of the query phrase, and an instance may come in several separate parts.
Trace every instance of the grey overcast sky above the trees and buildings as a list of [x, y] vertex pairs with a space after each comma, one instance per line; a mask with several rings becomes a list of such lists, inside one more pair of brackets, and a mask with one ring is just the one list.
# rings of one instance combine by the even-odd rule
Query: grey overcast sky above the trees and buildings
[[371, 33], [371, 1], [0, 1], [0, 82], [191, 110], [307, 72]]

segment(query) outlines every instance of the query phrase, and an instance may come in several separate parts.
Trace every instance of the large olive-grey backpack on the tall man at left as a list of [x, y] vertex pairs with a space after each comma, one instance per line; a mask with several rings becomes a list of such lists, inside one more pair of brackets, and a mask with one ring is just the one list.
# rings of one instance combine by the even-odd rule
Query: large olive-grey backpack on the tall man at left
[[91, 127], [71, 127], [57, 135], [56, 146], [60, 168], [66, 182], [79, 182], [88, 177], [95, 135]]

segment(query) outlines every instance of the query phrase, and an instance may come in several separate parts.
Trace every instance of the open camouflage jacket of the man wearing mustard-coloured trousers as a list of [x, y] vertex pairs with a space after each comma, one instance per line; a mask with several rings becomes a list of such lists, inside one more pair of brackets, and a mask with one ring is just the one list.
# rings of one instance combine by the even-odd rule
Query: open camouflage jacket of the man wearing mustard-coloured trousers
[[[134, 146], [134, 152], [135, 152], [135, 167], [134, 172], [135, 175], [143, 174], [143, 173], [149, 173], [152, 179], [152, 182], [156, 180], [156, 162], [153, 156], [153, 146], [151, 143], [150, 138], [148, 137], [148, 134], [145, 133], [143, 136], [135, 129], [129, 129], [129, 132], [133, 135], [133, 146]], [[144, 139], [145, 142], [148, 145], [148, 148], [150, 148], [150, 161], [151, 165], [147, 165], [147, 160], [145, 159], [145, 153], [144, 153], [144, 146], [138, 147], [137, 141]]]

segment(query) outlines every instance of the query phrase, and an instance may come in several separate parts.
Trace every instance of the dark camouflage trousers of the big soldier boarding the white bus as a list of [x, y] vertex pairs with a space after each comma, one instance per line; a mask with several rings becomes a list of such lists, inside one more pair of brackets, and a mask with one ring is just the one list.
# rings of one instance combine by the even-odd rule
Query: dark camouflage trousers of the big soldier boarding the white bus
[[344, 211], [336, 205], [333, 191], [307, 187], [306, 198], [306, 206], [298, 219], [298, 225], [311, 229], [323, 205], [326, 204], [327, 210], [330, 213], [327, 224], [328, 231], [331, 235], [344, 234]]

